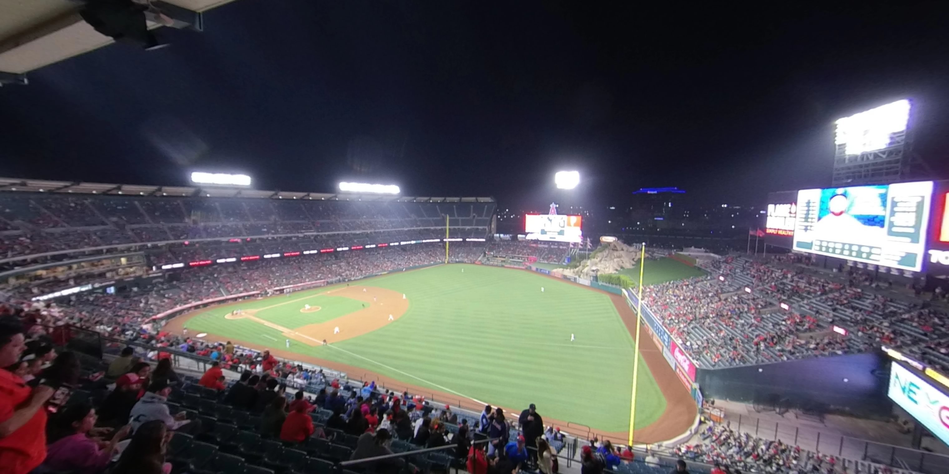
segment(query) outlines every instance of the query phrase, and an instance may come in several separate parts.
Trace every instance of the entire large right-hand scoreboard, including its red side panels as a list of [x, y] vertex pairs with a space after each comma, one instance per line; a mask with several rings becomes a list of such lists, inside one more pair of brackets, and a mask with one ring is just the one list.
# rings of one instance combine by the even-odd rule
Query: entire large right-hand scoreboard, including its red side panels
[[772, 192], [765, 242], [949, 274], [949, 180]]

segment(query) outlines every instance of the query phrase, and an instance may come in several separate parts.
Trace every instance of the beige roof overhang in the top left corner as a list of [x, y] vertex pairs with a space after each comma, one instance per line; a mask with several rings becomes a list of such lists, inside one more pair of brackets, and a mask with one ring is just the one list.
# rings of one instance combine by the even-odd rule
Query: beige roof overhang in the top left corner
[[[233, 0], [153, 2], [174, 27], [201, 29], [201, 12]], [[0, 0], [0, 85], [27, 83], [26, 73], [114, 43], [79, 16], [83, 1]], [[149, 22], [150, 28], [159, 27]]]

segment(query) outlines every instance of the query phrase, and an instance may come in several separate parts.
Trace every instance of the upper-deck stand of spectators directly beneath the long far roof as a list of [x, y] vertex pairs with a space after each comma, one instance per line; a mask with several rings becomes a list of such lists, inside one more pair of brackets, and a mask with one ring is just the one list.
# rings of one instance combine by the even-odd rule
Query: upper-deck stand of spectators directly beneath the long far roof
[[[444, 228], [483, 237], [493, 203], [0, 193], [0, 258], [195, 239]], [[443, 234], [443, 232], [442, 232]]]

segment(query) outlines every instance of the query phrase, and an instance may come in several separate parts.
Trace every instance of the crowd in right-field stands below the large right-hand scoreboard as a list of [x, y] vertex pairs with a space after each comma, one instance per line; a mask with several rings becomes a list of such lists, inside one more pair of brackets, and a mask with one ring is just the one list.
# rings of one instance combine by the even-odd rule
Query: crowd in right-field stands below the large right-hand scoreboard
[[[949, 367], [944, 311], [928, 301], [885, 297], [876, 290], [889, 285], [860, 272], [838, 281], [801, 263], [726, 257], [703, 264], [707, 277], [647, 287], [644, 301], [702, 367], [859, 353], [881, 344]], [[831, 332], [833, 326], [848, 336]]]

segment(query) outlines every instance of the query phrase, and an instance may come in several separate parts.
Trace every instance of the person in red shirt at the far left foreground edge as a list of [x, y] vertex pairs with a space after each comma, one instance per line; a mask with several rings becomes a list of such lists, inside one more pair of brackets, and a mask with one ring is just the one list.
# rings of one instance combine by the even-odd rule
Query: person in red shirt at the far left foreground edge
[[[9, 367], [26, 349], [20, 321], [0, 318], [0, 367]], [[22, 378], [0, 369], [0, 465], [9, 474], [27, 474], [47, 457], [47, 411], [53, 394], [45, 385], [30, 389]]]

